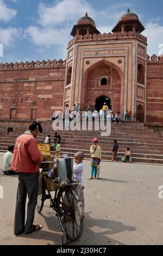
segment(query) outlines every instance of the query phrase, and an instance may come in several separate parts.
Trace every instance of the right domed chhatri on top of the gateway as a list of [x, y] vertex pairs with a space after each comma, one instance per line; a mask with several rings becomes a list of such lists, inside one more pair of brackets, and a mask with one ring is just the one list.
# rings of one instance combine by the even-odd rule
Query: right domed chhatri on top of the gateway
[[139, 17], [135, 13], [130, 13], [128, 8], [127, 13], [123, 14], [118, 21], [117, 25], [112, 29], [112, 32], [129, 32], [132, 31], [141, 33], [145, 30], [142, 23], [139, 20]]

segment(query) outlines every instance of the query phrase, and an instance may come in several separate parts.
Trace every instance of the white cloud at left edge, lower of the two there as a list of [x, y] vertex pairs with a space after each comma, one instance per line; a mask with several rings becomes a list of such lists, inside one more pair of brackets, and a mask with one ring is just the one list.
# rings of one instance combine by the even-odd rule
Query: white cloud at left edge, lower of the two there
[[0, 28], [0, 43], [4, 47], [12, 47], [16, 43], [16, 39], [21, 37], [21, 29], [20, 28]]

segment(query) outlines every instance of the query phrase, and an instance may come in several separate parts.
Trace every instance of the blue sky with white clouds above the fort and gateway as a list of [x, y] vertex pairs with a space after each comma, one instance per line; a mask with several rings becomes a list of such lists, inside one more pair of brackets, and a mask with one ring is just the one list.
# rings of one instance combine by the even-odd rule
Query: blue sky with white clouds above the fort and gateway
[[161, 0], [0, 0], [0, 62], [64, 60], [71, 29], [86, 11], [99, 31], [109, 33], [128, 7], [146, 28], [148, 54], [163, 54]]

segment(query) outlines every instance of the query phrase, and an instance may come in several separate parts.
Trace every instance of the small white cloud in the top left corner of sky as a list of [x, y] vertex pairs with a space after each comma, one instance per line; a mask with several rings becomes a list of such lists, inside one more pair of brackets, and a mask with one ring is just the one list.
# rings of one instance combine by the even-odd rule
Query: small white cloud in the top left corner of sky
[[16, 10], [8, 8], [7, 4], [3, 0], [0, 0], [0, 21], [9, 22], [16, 14]]

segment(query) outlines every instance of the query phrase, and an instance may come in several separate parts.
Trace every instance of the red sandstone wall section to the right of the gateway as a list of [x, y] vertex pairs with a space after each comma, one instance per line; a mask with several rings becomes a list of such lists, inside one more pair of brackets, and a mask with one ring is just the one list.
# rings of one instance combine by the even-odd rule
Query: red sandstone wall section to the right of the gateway
[[163, 123], [163, 57], [147, 62], [147, 122]]

